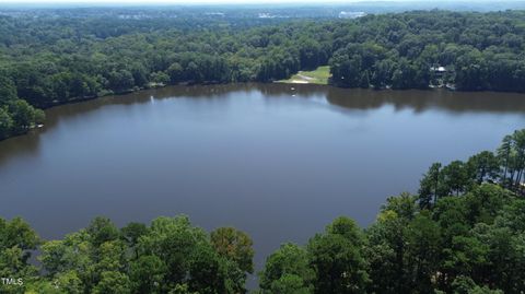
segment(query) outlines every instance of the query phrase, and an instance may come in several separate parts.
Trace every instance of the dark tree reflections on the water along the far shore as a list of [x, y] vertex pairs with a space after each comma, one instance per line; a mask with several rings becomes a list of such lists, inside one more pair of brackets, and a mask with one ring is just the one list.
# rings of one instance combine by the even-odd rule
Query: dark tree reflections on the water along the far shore
[[432, 91], [373, 91], [340, 89], [310, 84], [225, 84], [168, 86], [120, 96], [108, 96], [83, 103], [57, 106], [46, 111], [44, 128], [0, 142], [0, 165], [9, 157], [31, 155], [38, 151], [39, 136], [56, 127], [59, 121], [82, 116], [108, 105], [133, 105], [153, 103], [155, 99], [191, 97], [196, 99], [221, 99], [229, 94], [243, 95], [257, 91], [267, 99], [289, 98], [292, 95], [305, 99], [322, 98], [330, 105], [369, 110], [392, 105], [396, 110], [411, 109], [415, 113], [441, 110], [450, 114], [501, 113], [525, 114], [525, 95], [493, 92]]

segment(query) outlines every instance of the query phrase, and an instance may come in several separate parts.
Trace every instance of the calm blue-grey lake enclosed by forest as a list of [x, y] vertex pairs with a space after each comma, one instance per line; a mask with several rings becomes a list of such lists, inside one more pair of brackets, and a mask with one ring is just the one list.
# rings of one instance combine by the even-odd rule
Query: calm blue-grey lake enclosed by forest
[[525, 95], [314, 85], [166, 87], [47, 111], [0, 142], [0, 216], [45, 238], [190, 215], [255, 240], [257, 263], [338, 215], [363, 226], [431, 163], [494, 150], [525, 127]]

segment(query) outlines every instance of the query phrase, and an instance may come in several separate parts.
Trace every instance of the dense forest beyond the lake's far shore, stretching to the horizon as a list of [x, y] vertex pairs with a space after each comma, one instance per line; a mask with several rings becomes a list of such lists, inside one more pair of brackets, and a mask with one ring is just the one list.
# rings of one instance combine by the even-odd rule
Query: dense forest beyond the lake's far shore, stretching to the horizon
[[343, 87], [525, 92], [523, 11], [48, 14], [0, 15], [0, 140], [60, 103], [177, 83], [271, 82], [322, 64]]

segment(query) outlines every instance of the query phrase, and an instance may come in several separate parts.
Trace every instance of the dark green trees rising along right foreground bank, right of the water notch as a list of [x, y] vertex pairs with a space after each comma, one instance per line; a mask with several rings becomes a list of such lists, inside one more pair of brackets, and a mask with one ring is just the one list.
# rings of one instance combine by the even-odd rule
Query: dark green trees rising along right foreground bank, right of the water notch
[[[304, 260], [315, 270], [315, 293], [523, 293], [522, 136], [505, 137], [498, 156], [433, 164], [420, 195], [388, 198], [364, 234], [338, 219], [306, 249], [281, 247], [260, 275], [262, 293], [312, 293]], [[295, 257], [300, 250], [307, 258]]]

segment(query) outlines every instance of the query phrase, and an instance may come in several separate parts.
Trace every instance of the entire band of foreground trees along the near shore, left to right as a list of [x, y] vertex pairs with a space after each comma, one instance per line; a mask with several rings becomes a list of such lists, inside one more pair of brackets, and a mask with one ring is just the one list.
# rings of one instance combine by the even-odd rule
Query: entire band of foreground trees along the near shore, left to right
[[[305, 246], [283, 244], [256, 293], [523, 293], [525, 130], [497, 152], [433, 164], [417, 195], [390, 197], [362, 230], [341, 216]], [[32, 260], [38, 249], [39, 268]], [[246, 293], [253, 242], [187, 216], [118, 228], [96, 217], [59, 240], [0, 219], [0, 293]], [[18, 282], [22, 279], [22, 283]]]

